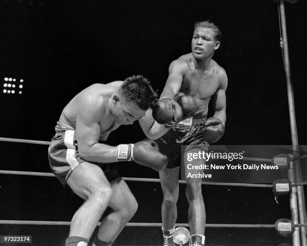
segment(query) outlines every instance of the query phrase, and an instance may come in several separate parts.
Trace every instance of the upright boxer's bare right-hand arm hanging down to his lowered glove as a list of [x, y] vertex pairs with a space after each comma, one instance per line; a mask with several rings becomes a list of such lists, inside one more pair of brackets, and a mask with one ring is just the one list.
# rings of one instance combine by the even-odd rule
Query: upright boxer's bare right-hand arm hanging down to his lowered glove
[[219, 118], [224, 123], [226, 122], [226, 89], [228, 79], [225, 70], [223, 69], [219, 74], [219, 87], [213, 95], [214, 115], [213, 117]]

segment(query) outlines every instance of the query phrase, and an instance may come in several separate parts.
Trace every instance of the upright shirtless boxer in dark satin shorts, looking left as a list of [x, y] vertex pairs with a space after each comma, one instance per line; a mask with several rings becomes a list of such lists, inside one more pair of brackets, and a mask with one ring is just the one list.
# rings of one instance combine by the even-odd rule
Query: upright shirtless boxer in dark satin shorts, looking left
[[[195, 153], [196, 148], [207, 151], [208, 144], [218, 141], [224, 134], [227, 75], [225, 70], [212, 60], [214, 51], [220, 46], [220, 38], [221, 32], [214, 24], [207, 21], [195, 24], [192, 53], [179, 57], [169, 67], [168, 80], [160, 100], [152, 111], [156, 121], [149, 112], [140, 121], [148, 138], [158, 139], [164, 135], [158, 140], [158, 146], [169, 158], [167, 168], [159, 172], [164, 194], [162, 203], [164, 245], [174, 245], [181, 145], [187, 145], [184, 154], [186, 157], [189, 152]], [[213, 117], [207, 119], [210, 100], [213, 101], [215, 112]], [[190, 110], [193, 104], [195, 108]], [[193, 117], [189, 117], [191, 115]], [[158, 122], [166, 125], [159, 126]], [[189, 162], [192, 165], [203, 163], [203, 160]], [[187, 163], [184, 164], [186, 174], [203, 171], [187, 170]], [[188, 178], [186, 184], [186, 196], [189, 202], [188, 220], [193, 245], [205, 243], [206, 213], [201, 181], [201, 179]]]

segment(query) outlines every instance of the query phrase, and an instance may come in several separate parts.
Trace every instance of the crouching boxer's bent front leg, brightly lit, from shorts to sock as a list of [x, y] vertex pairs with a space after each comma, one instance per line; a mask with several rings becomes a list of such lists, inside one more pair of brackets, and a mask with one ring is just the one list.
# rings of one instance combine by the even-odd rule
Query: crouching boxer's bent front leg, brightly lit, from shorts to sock
[[72, 171], [67, 185], [85, 200], [72, 218], [69, 236], [89, 239], [112, 197], [111, 186], [101, 168], [88, 162]]

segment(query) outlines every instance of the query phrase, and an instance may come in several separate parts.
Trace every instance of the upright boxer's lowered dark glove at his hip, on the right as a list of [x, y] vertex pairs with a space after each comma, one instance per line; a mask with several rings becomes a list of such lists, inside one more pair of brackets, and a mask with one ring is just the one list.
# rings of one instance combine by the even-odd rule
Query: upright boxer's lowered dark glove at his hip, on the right
[[206, 143], [217, 142], [225, 132], [225, 124], [216, 117], [210, 117], [206, 120], [203, 137]]

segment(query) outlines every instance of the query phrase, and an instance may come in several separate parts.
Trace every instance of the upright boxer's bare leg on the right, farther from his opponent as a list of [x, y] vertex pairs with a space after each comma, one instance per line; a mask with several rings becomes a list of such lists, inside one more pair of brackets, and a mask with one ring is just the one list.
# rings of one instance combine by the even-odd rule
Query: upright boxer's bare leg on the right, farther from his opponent
[[[195, 150], [189, 150], [185, 152], [184, 160], [187, 160], [188, 153], [195, 153]], [[198, 166], [204, 164], [202, 159], [193, 159], [189, 162], [193, 166]], [[201, 169], [187, 169], [185, 165], [186, 177], [187, 173], [198, 174], [203, 173], [204, 170]], [[191, 235], [205, 233], [205, 223], [206, 223], [206, 210], [205, 203], [202, 195], [202, 179], [201, 178], [187, 178], [186, 184], [186, 196], [189, 202], [189, 227]]]

